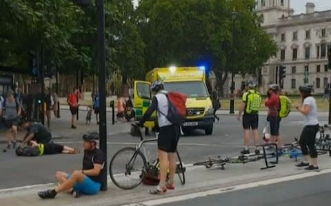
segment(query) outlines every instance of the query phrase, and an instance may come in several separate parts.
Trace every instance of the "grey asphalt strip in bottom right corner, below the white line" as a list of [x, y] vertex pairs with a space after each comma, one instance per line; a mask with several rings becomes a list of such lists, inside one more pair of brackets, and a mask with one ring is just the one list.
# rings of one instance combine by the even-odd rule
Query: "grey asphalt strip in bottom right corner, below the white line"
[[208, 206], [328, 205], [329, 201], [331, 201], [330, 178], [330, 173], [321, 174], [294, 181], [252, 187], [246, 190], [191, 198], [175, 203], [165, 203], [163, 206], [200, 206], [206, 204]]

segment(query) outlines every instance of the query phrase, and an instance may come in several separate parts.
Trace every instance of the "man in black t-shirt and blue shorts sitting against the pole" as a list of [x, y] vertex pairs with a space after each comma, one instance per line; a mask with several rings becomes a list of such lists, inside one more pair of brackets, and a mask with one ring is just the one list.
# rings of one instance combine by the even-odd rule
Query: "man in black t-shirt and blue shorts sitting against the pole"
[[105, 154], [97, 148], [99, 134], [88, 133], [83, 135], [83, 141], [83, 169], [75, 170], [72, 174], [57, 172], [55, 176], [60, 185], [53, 190], [38, 192], [39, 197], [54, 198], [58, 193], [70, 189], [72, 189], [72, 192], [82, 194], [97, 194], [100, 191]]

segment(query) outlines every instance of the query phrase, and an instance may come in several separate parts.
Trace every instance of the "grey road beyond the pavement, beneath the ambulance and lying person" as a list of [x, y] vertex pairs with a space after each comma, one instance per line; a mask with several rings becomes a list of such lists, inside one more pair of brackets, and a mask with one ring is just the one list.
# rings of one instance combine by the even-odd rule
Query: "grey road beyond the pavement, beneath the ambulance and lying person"
[[[210, 155], [221, 155], [226, 157], [239, 152], [243, 144], [243, 132], [241, 123], [236, 116], [222, 115], [221, 120], [215, 123], [214, 133], [205, 136], [197, 131], [190, 137], [182, 137], [179, 141], [179, 151], [184, 163], [194, 163], [206, 159]], [[265, 116], [261, 115], [261, 119]], [[326, 121], [326, 117], [321, 117]], [[265, 122], [260, 121], [260, 130]], [[108, 124], [108, 126], [110, 126]], [[285, 140], [290, 142], [298, 137], [302, 128], [301, 116], [292, 115], [281, 122], [281, 133]], [[77, 133], [79, 129], [77, 130]], [[60, 141], [60, 142], [59, 142]], [[81, 148], [81, 139], [61, 139], [58, 142], [73, 148]], [[108, 136], [108, 163], [114, 152], [125, 146], [134, 146], [139, 139], [130, 135], [109, 135]], [[0, 147], [4, 147], [2, 144]], [[149, 157], [156, 156], [154, 144], [147, 146], [150, 149]], [[0, 153], [0, 190], [10, 187], [21, 187], [43, 183], [53, 183], [54, 174], [57, 170], [72, 171], [81, 168], [82, 154], [79, 155], [50, 155], [43, 157], [16, 157], [14, 150]]]

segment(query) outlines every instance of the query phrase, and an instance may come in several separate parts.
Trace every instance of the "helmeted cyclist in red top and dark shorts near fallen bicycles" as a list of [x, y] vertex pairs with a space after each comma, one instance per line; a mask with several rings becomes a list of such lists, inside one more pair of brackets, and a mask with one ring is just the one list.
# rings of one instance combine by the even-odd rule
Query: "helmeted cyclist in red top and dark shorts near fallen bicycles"
[[278, 145], [281, 144], [281, 139], [279, 135], [279, 125], [281, 122], [281, 117], [279, 117], [279, 86], [278, 84], [271, 84], [268, 90], [268, 100], [265, 101], [265, 106], [268, 106], [268, 121], [270, 122], [270, 135], [271, 142]]

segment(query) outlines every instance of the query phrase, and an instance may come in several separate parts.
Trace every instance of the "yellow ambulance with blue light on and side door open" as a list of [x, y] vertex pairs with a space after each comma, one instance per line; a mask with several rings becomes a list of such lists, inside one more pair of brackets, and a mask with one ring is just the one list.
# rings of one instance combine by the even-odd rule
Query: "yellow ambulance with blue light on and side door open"
[[[205, 84], [205, 67], [163, 67], [155, 68], [146, 74], [146, 81], [134, 82], [134, 110], [137, 120], [141, 119], [152, 100], [150, 85], [155, 80], [164, 83], [165, 90], [179, 91], [188, 96], [187, 117], [183, 123], [183, 133], [200, 129], [205, 135], [212, 135], [214, 109]], [[156, 115], [152, 115], [146, 127], [154, 127]]]

